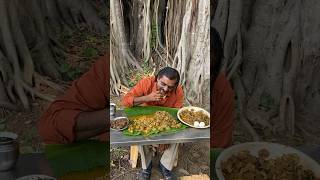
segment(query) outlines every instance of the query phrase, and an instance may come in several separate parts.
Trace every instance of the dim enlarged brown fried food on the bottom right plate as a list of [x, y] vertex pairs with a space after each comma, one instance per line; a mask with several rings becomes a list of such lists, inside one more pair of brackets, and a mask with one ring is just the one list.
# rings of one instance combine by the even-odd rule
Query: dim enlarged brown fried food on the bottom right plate
[[232, 155], [221, 163], [224, 178], [226, 180], [319, 180], [311, 170], [306, 170], [299, 165], [300, 159], [297, 154], [284, 154], [268, 159], [269, 154], [268, 150], [261, 149], [258, 153], [259, 157], [251, 155], [249, 151]]

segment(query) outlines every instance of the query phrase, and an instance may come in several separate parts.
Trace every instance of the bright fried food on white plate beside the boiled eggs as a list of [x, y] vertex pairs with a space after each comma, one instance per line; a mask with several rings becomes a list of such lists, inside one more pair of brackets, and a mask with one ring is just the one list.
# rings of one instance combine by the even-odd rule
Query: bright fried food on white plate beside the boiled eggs
[[197, 121], [204, 122], [205, 126], [210, 125], [210, 117], [207, 116], [203, 111], [195, 111], [193, 109], [186, 109], [180, 112], [180, 118], [191, 125], [194, 125], [194, 123]]

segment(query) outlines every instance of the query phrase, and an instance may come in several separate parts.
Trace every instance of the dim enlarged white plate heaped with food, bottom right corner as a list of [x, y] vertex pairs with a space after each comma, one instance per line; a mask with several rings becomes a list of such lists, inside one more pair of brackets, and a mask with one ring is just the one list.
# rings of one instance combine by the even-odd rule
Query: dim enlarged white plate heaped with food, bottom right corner
[[319, 179], [320, 165], [290, 146], [269, 142], [233, 145], [219, 155], [218, 179]]

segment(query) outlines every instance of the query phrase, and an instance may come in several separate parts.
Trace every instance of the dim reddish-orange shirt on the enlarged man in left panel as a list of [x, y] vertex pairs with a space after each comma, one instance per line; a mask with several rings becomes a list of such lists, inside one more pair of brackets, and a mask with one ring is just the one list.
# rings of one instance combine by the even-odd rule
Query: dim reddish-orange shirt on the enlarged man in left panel
[[[109, 104], [109, 55], [72, 83], [65, 94], [51, 103], [38, 122], [44, 143], [62, 144], [75, 140], [74, 127], [81, 112], [102, 110]], [[109, 113], [106, 112], [106, 120]], [[103, 134], [107, 140], [107, 133]], [[108, 138], [109, 139], [109, 138]]]

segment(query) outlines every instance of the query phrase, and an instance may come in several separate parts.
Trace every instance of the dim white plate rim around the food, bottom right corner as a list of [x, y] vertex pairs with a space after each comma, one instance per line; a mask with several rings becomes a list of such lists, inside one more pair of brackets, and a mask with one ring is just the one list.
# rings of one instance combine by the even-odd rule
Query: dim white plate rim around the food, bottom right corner
[[268, 143], [268, 142], [248, 142], [248, 143], [233, 145], [225, 149], [224, 151], [222, 151], [222, 153], [219, 155], [215, 164], [215, 169], [216, 169], [216, 174], [218, 179], [224, 180], [224, 176], [221, 168], [222, 161], [227, 160], [232, 155], [235, 155], [243, 150], [248, 150], [250, 154], [254, 156], [258, 156], [258, 152], [261, 149], [267, 149], [269, 151], [270, 153], [269, 158], [280, 157], [283, 154], [295, 153], [299, 156], [300, 164], [303, 166], [303, 168], [310, 169], [315, 173], [317, 177], [320, 177], [320, 171], [319, 171], [320, 165], [309, 156], [305, 155], [304, 153], [292, 147], [276, 144], [276, 143]]

